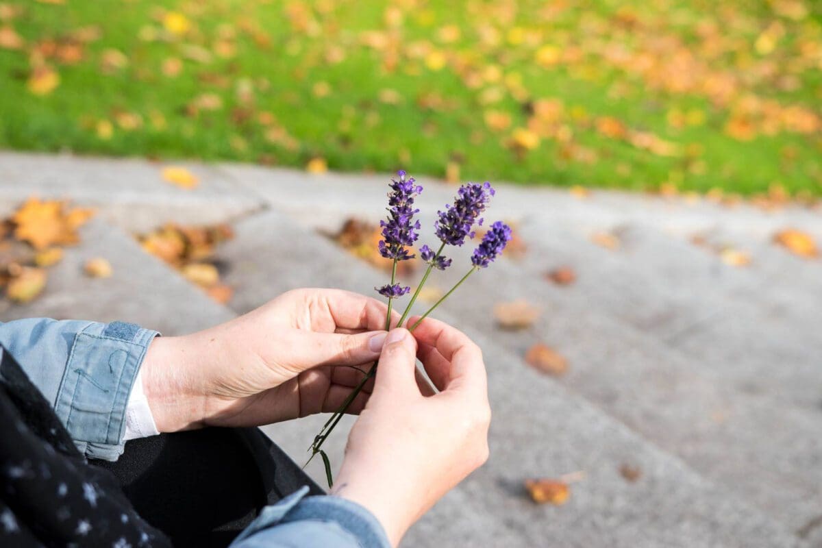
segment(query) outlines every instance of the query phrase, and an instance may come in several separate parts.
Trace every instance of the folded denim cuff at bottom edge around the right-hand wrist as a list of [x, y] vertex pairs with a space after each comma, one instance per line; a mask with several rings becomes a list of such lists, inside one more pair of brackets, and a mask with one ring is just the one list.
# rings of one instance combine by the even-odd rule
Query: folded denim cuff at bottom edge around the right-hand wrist
[[385, 529], [363, 506], [333, 495], [306, 497], [307, 493], [308, 487], [303, 486], [277, 504], [266, 506], [232, 544], [275, 525], [313, 522], [339, 527], [346, 536], [353, 537], [356, 546], [390, 548]]

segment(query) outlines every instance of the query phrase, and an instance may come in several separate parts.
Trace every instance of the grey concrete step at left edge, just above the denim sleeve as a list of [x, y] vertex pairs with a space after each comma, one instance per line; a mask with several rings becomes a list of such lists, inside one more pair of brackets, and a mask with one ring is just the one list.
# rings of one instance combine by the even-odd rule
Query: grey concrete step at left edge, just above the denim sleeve
[[[84, 274], [85, 262], [96, 257], [109, 260], [111, 278]], [[92, 219], [81, 228], [80, 245], [67, 247], [62, 261], [48, 269], [39, 297], [25, 305], [0, 300], [3, 321], [32, 317], [122, 320], [176, 335], [219, 324], [234, 313], [145, 253], [119, 228]]]

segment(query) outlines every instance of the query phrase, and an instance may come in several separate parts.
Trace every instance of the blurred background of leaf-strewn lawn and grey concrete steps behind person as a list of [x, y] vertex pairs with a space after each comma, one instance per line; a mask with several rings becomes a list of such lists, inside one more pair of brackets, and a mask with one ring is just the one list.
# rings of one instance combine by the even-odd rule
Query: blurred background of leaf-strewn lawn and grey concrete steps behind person
[[0, 319], [372, 294], [391, 173], [429, 245], [488, 180], [492, 456], [405, 546], [822, 546], [820, 105], [813, 0], [0, 0]]

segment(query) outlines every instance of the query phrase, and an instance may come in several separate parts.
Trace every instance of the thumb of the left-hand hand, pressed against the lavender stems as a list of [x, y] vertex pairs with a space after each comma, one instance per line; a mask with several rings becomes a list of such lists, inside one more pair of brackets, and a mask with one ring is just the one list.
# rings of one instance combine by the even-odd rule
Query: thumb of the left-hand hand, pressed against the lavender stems
[[293, 371], [316, 366], [358, 366], [376, 361], [385, 339], [385, 331], [348, 335], [295, 330], [288, 354], [279, 361]]

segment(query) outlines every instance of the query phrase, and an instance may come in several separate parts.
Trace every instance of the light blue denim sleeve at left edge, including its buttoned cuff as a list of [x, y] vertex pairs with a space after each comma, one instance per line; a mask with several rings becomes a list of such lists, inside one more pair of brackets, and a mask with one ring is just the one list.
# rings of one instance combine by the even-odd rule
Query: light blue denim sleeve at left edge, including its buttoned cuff
[[77, 449], [109, 461], [122, 454], [128, 396], [157, 334], [120, 321], [0, 324], [0, 343], [53, 404]]

